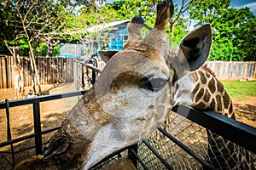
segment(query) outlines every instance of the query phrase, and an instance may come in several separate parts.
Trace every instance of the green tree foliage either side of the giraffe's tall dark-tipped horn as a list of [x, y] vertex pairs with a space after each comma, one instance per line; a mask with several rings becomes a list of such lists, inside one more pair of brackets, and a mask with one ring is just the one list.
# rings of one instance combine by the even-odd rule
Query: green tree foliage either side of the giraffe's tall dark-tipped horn
[[[170, 37], [170, 47], [171, 42], [173, 42], [174, 46], [177, 46], [182, 37], [188, 32], [187, 26], [185, 26], [186, 21], [183, 19], [182, 14], [188, 9], [192, 1], [182, 0], [181, 6], [179, 8], [177, 7], [177, 4], [175, 4], [173, 17], [169, 21], [170, 27], [167, 29], [167, 36]], [[116, 17], [119, 20], [127, 20], [133, 18], [136, 15], [141, 15], [145, 20], [145, 24], [153, 27], [156, 17], [155, 8], [156, 4], [159, 2], [160, 1], [154, 0], [119, 0], [107, 4], [106, 8], [113, 9], [116, 13]]]

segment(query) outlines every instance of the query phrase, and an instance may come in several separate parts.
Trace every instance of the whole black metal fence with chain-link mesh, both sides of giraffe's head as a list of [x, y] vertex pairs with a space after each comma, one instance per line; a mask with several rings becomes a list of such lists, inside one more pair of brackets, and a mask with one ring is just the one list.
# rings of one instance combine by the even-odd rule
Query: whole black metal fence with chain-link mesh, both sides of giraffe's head
[[[35, 145], [28, 149], [34, 147], [35, 154], [41, 154], [43, 145], [42, 135], [53, 132], [59, 127], [49, 128], [44, 131], [41, 130], [40, 102], [68, 98], [84, 94], [85, 92], [77, 91], [67, 94], [42, 96], [34, 99], [20, 99], [10, 102], [6, 100], [5, 102], [1, 102], [0, 109], [6, 110], [7, 141], [0, 144], [0, 149], [9, 146], [10, 151], [0, 152], [0, 156], [3, 157], [4, 154], [11, 155], [11, 160], [8, 160], [8, 162], [11, 167], [14, 167], [16, 163], [15, 154], [27, 150], [15, 151], [14, 144], [32, 138], [34, 138]], [[33, 108], [34, 133], [12, 139], [9, 108], [27, 104], [32, 104]], [[222, 135], [226, 139], [230, 139], [236, 144], [240, 144], [247, 150], [251, 150], [252, 154], [256, 152], [255, 127], [250, 127], [212, 111], [196, 111], [182, 105], [172, 108], [172, 111], [172, 114], [168, 116], [168, 118], [171, 118], [168, 120], [168, 126], [158, 127], [157, 131], [150, 134], [148, 139], [143, 139], [139, 144], [134, 144], [112, 153], [96, 164], [96, 166], [92, 167], [92, 169], [101, 169], [107, 166], [106, 164], [109, 161], [116, 161], [121, 157], [120, 153], [124, 151], [128, 153], [128, 156], [130, 156], [131, 161], [137, 169], [200, 169], [200, 165], [212, 169], [211, 162], [209, 163], [204, 160], [207, 157], [207, 144], [204, 144], [207, 137], [204, 135], [200, 136], [200, 133], [203, 133], [205, 128]], [[182, 119], [180, 119], [181, 117]], [[199, 148], [202, 148], [202, 150], [198, 150]], [[255, 156], [253, 158], [255, 161]]]

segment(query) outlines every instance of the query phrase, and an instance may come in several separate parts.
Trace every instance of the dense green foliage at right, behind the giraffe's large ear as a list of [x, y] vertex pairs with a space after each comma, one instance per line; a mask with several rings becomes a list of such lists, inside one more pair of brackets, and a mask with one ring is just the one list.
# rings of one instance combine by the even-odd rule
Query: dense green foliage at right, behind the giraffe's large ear
[[192, 3], [189, 14], [197, 25], [212, 26], [209, 60], [256, 60], [256, 20], [249, 8], [230, 8], [230, 0], [201, 0]]

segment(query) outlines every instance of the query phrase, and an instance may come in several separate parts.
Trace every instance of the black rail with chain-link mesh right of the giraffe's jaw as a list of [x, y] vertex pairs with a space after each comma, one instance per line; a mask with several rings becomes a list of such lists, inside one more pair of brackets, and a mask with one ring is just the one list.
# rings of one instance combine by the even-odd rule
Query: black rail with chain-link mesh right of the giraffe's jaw
[[[208, 144], [206, 127], [246, 149], [254, 163], [248, 169], [256, 168], [255, 127], [212, 111], [196, 111], [183, 105], [172, 108], [172, 111], [166, 125], [158, 127], [148, 139], [138, 144], [136, 157], [140, 161], [137, 162], [143, 161], [143, 164], [139, 163], [137, 169], [231, 169], [228, 163], [227, 167], [218, 167], [209, 156], [208, 150], [212, 148]], [[218, 156], [214, 158], [218, 160]], [[236, 162], [236, 169], [244, 169], [238, 167], [239, 163]]]

